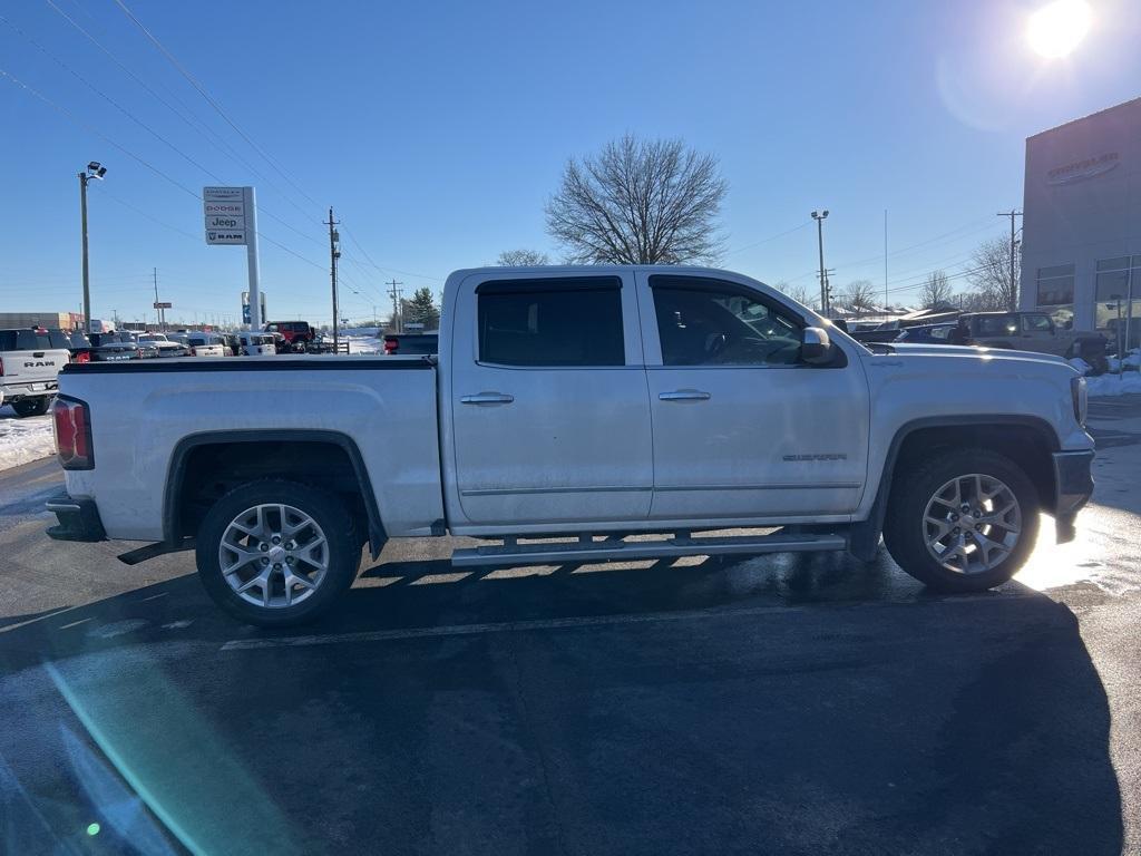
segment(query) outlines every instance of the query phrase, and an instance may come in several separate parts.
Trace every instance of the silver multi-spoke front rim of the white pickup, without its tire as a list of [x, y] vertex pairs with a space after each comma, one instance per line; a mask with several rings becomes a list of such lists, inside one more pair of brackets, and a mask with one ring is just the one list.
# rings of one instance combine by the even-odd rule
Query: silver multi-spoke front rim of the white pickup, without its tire
[[960, 574], [997, 567], [1018, 546], [1022, 509], [994, 476], [956, 476], [934, 492], [923, 511], [923, 540], [936, 562]]

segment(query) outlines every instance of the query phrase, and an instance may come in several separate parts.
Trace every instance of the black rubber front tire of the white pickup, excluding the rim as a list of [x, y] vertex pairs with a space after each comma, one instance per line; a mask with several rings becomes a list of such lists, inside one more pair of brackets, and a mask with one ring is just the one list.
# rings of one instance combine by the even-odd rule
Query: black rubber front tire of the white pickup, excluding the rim
[[[1003, 482], [1014, 494], [1021, 532], [1010, 554], [997, 565], [965, 574], [945, 567], [928, 549], [924, 514], [936, 492], [956, 476], [981, 474]], [[1038, 534], [1038, 495], [1022, 469], [988, 449], [955, 449], [897, 470], [888, 502], [883, 540], [896, 563], [938, 591], [976, 592], [1009, 581], [1026, 562]]]

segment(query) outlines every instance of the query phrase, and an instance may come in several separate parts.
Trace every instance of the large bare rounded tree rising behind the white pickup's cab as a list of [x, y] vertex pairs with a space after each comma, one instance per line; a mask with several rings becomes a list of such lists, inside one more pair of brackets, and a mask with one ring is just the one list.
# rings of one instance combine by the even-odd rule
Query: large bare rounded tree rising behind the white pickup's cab
[[570, 159], [547, 203], [547, 231], [584, 264], [710, 263], [726, 183], [718, 161], [680, 139], [626, 135], [597, 156]]

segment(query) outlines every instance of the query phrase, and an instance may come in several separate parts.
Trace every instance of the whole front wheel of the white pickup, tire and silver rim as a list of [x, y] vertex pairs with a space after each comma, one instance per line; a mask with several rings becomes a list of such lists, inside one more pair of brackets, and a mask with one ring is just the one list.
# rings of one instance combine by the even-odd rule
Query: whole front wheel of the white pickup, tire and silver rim
[[1034, 484], [1009, 458], [957, 449], [896, 475], [883, 540], [899, 566], [948, 592], [1010, 580], [1038, 534]]

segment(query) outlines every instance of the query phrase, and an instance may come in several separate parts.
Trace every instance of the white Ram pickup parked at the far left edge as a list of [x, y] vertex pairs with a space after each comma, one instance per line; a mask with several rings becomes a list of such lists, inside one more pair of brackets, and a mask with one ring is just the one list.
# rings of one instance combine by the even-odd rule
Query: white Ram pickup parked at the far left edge
[[0, 330], [0, 405], [10, 404], [17, 417], [47, 413], [70, 362], [66, 337], [43, 328]]

